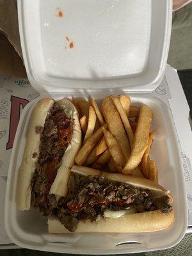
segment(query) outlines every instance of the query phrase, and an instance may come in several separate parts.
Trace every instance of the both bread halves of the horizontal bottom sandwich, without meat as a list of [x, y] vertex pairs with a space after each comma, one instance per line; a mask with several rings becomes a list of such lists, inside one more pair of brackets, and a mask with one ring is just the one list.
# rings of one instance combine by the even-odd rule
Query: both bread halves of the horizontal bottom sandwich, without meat
[[[107, 173], [88, 168], [85, 166], [74, 165], [72, 173], [79, 175], [102, 175], [106, 179], [116, 182], [123, 182], [142, 189], [150, 189], [154, 196], [167, 195], [172, 201], [170, 191], [164, 189], [159, 184], [140, 177], [119, 173]], [[79, 221], [76, 233], [84, 232], [151, 232], [170, 227], [175, 220], [174, 212], [164, 214], [160, 210], [129, 214], [120, 218], [105, 218], [97, 222]], [[70, 233], [58, 220], [48, 220], [49, 233]]]

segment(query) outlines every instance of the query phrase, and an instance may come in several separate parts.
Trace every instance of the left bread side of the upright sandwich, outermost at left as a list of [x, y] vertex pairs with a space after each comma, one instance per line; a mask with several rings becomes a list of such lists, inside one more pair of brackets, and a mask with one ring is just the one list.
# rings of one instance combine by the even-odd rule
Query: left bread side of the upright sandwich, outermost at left
[[[35, 127], [44, 127], [47, 111], [49, 111], [53, 105], [53, 99], [41, 99], [36, 103], [31, 115], [17, 183], [17, 207], [20, 211], [29, 210], [31, 205], [31, 179], [35, 172], [40, 145], [40, 134], [36, 134]], [[33, 157], [33, 153], [35, 152], [36, 157]]]

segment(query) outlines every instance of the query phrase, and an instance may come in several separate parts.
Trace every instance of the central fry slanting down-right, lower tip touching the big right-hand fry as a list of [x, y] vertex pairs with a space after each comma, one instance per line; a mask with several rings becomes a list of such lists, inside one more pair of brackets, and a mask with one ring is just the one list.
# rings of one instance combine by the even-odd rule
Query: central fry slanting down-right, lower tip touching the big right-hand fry
[[124, 167], [125, 166], [125, 157], [122, 154], [122, 149], [118, 142], [115, 140], [111, 132], [109, 132], [106, 129], [102, 129], [104, 133], [104, 138], [106, 140], [106, 143], [108, 144], [109, 152], [111, 156], [113, 157], [113, 160], [115, 161], [117, 166]]

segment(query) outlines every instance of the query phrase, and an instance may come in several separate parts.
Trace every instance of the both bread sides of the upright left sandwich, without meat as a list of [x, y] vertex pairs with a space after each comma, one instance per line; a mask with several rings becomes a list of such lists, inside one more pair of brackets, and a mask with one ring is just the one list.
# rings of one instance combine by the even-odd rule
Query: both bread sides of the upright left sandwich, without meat
[[[55, 103], [53, 99], [41, 99], [35, 105], [31, 115], [17, 185], [17, 207], [20, 211], [29, 210], [31, 205], [31, 181], [41, 153], [41, 136], [44, 131], [45, 120]], [[65, 196], [67, 194], [67, 182], [70, 175], [69, 169], [74, 164], [74, 157], [81, 146], [81, 127], [79, 125], [77, 109], [70, 100], [61, 99], [57, 104], [58, 108], [63, 109], [63, 113], [67, 113], [73, 120], [73, 131], [72, 138], [62, 156], [60, 168], [57, 171], [49, 194]]]

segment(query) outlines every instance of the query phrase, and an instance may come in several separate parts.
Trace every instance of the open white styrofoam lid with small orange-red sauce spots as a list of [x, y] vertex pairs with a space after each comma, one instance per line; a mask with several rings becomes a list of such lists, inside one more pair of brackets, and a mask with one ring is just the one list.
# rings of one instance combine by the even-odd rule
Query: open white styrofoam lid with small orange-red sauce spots
[[170, 43], [169, 0], [19, 1], [24, 63], [39, 92], [152, 91]]

